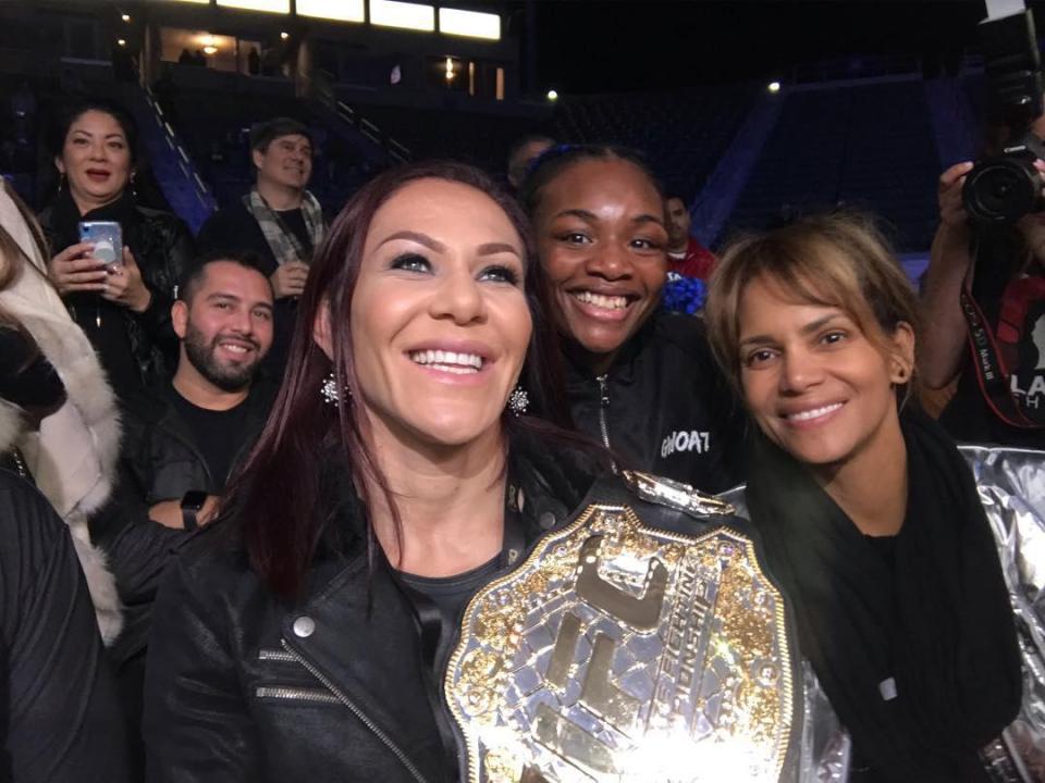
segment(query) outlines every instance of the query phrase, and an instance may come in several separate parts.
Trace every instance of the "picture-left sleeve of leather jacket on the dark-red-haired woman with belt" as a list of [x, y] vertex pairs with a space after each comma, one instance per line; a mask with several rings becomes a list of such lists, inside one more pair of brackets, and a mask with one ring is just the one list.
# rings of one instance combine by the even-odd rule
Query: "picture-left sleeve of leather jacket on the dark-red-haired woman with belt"
[[[194, 543], [204, 544], [204, 533]], [[206, 542], [212, 544], [212, 542]], [[206, 569], [179, 558], [156, 602], [145, 674], [142, 731], [149, 783], [246, 783], [262, 780], [263, 750], [247, 710], [234, 624]]]

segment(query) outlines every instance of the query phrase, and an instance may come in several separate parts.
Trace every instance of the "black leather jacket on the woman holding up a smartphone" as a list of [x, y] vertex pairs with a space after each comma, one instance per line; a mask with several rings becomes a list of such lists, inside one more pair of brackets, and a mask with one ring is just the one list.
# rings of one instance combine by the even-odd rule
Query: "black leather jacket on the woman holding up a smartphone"
[[[135, 313], [122, 308], [122, 315], [142, 385], [156, 386], [170, 377], [177, 361], [177, 337], [171, 326], [171, 304], [177, 284], [195, 253], [193, 237], [185, 223], [170, 212], [136, 204], [120, 204], [119, 209], [111, 211], [115, 214], [95, 216], [93, 213], [87, 216], [119, 219], [123, 225], [124, 244], [134, 253], [142, 278], [152, 293], [145, 312]], [[58, 202], [39, 215], [52, 254], [78, 241], [75, 234], [77, 215], [67, 212], [67, 206]], [[71, 222], [73, 225], [70, 225]], [[66, 303], [71, 304], [72, 300], [66, 300]], [[79, 321], [79, 318], [76, 320]], [[124, 391], [115, 390], [120, 395]]]

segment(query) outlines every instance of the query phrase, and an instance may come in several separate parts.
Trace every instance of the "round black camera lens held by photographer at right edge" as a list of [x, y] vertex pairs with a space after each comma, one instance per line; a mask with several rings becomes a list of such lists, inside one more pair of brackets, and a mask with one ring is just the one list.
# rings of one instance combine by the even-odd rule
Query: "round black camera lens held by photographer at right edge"
[[998, 158], [969, 173], [962, 201], [980, 223], [1015, 223], [1037, 208], [1042, 182], [1030, 161]]

